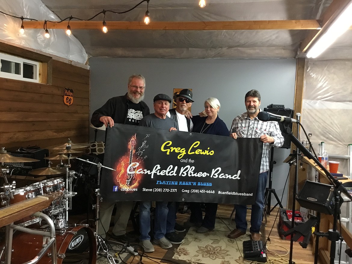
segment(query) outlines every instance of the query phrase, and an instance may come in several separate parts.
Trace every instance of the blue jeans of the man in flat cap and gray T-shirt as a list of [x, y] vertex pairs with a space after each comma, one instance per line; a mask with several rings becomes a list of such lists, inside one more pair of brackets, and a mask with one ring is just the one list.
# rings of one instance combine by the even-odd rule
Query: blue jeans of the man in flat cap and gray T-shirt
[[[150, 240], [150, 207], [152, 202], [139, 202], [139, 240]], [[154, 214], [154, 238], [161, 239], [166, 233], [168, 202], [156, 202]]]

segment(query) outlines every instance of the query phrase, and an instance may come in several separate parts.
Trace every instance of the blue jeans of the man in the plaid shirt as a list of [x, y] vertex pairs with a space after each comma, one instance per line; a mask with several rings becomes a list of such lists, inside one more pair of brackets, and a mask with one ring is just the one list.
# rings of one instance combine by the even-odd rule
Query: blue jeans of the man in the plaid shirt
[[[262, 172], [259, 174], [256, 200], [254, 205], [252, 205], [251, 213], [251, 233], [259, 233], [260, 226], [262, 225], [263, 220], [263, 209], [264, 209], [264, 194], [266, 189], [266, 181], [268, 180], [268, 171]], [[246, 205], [235, 205], [235, 223], [236, 228], [246, 232], [247, 230], [247, 206]]]

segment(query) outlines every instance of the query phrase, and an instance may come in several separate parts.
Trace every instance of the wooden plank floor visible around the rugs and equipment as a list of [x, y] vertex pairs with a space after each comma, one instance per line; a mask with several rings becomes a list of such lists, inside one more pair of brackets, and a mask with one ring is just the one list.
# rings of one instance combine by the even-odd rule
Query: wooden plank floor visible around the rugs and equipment
[[[230, 221], [230, 215], [233, 209], [233, 205], [220, 205], [218, 207], [218, 217], [224, 219], [231, 226], [230, 228], [234, 228], [234, 221]], [[248, 210], [250, 213], [250, 210]], [[284, 264], [289, 263], [289, 252], [290, 252], [290, 240], [283, 240], [279, 237], [277, 231], [277, 223], [279, 217], [277, 215], [277, 208], [275, 208], [270, 215], [268, 215], [267, 225], [265, 227], [265, 235], [266, 238], [269, 236], [269, 240], [267, 242], [268, 249], [268, 259], [270, 263], [273, 264]], [[183, 224], [183, 222], [187, 221], [189, 218], [189, 214], [177, 214], [177, 222], [179, 224]], [[249, 219], [249, 215], [247, 215], [247, 219]], [[132, 225], [128, 225], [127, 231], [132, 231]], [[229, 231], [230, 233], [230, 231]], [[142, 262], [144, 264], [155, 264], [161, 263], [159, 259], [161, 259], [166, 253], [165, 249], [162, 249], [159, 246], [155, 246], [155, 251], [153, 253], [148, 253], [149, 258], [143, 256]], [[296, 264], [312, 264], [314, 263], [314, 255], [312, 254], [312, 245], [308, 245], [307, 249], [303, 249], [298, 242], [293, 243], [293, 256], [292, 260]], [[129, 262], [131, 264], [137, 264], [139, 262], [139, 258], [135, 258], [133, 262]], [[249, 261], [245, 261], [244, 263], [251, 263]], [[318, 260], [318, 263], [321, 262]], [[231, 263], [232, 264], [232, 263]]]

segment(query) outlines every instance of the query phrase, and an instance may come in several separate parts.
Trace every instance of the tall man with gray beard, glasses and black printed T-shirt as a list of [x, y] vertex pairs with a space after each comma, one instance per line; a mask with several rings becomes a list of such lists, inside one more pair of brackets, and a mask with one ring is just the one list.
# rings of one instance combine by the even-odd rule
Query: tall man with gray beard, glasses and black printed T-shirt
[[[149, 107], [143, 100], [145, 78], [140, 74], [133, 74], [128, 78], [127, 93], [109, 99], [105, 105], [94, 111], [90, 122], [95, 127], [113, 127], [114, 123], [137, 125], [139, 121], [150, 114]], [[136, 238], [127, 237], [126, 227], [133, 206], [133, 201], [99, 203], [98, 232], [102, 238], [106, 237], [109, 230], [111, 214], [116, 204], [115, 225], [112, 233], [113, 239], [122, 243], [134, 242]]]

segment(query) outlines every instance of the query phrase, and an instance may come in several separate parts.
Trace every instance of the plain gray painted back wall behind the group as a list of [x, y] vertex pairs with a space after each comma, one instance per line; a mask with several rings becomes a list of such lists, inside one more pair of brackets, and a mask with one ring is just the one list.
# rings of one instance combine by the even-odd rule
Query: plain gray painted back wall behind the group
[[[219, 99], [219, 117], [230, 129], [233, 118], [245, 112], [244, 96], [251, 89], [259, 90], [262, 110], [273, 104], [293, 108], [295, 91], [295, 59], [139, 59], [105, 58], [89, 59], [91, 76], [90, 114], [109, 98], [127, 92], [128, 77], [142, 74], [146, 79], [144, 101], [153, 113], [153, 97], [165, 93], [172, 97], [174, 88], [191, 88], [194, 103], [192, 113], [204, 110], [204, 101]], [[90, 139], [94, 141], [91, 128]], [[97, 140], [104, 139], [99, 130]], [[275, 149], [273, 188], [281, 198], [289, 166], [282, 163], [289, 155], [287, 149]], [[274, 200], [272, 200], [274, 203]], [[275, 202], [276, 203], [276, 202]], [[274, 204], [275, 204], [274, 203]], [[287, 203], [287, 190], [283, 206]], [[290, 208], [291, 206], [289, 206]]]

